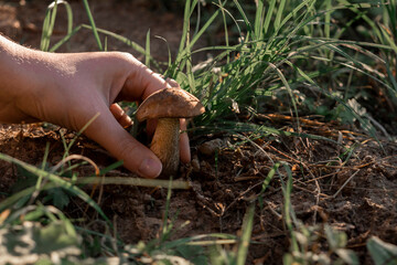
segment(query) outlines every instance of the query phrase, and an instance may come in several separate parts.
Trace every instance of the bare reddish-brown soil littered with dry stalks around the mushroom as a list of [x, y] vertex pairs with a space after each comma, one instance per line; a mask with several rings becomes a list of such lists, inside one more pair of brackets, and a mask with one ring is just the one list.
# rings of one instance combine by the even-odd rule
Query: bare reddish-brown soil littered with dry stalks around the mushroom
[[[43, 1], [0, 2], [0, 30], [15, 41], [39, 49], [41, 26], [45, 13]], [[146, 7], [144, 1], [92, 1], [93, 15], [99, 28], [114, 31], [144, 46], [148, 29], [151, 35], [168, 40], [172, 51], [178, 49], [182, 14], [168, 12], [158, 7]], [[81, 1], [72, 1], [75, 23], [87, 23]], [[161, 15], [159, 15], [161, 14]], [[65, 19], [60, 14], [55, 39], [64, 32]], [[62, 26], [61, 26], [62, 25]], [[78, 33], [69, 45], [60, 52], [97, 51], [90, 32]], [[139, 53], [112, 40], [108, 50]], [[153, 39], [153, 56], [167, 60], [167, 45]], [[296, 124], [281, 115], [261, 115], [254, 120], [283, 130], [293, 131]], [[282, 264], [282, 255], [289, 252], [290, 233], [283, 215], [282, 184], [288, 171], [279, 172], [262, 191], [273, 162], [289, 165], [293, 179], [291, 204], [296, 216], [305, 225], [316, 225], [316, 237], [308, 251], [320, 253], [328, 250], [324, 240], [325, 223], [347, 234], [347, 248], [355, 251], [362, 264], [372, 264], [366, 241], [376, 235], [397, 244], [397, 144], [375, 140], [336, 123], [323, 123], [308, 117], [300, 120], [301, 130], [329, 139], [266, 136], [247, 140], [247, 136], [206, 135], [192, 137], [192, 162], [181, 166], [179, 178], [190, 181], [190, 190], [173, 190], [170, 216], [174, 220], [172, 239], [206, 233], [238, 234], [248, 205], [255, 204], [249, 264]], [[0, 152], [28, 163], [41, 166], [49, 144], [47, 163], [60, 162], [65, 152], [64, 142], [75, 132], [53, 125], [0, 126]], [[63, 140], [64, 138], [64, 140]], [[78, 153], [106, 168], [115, 160], [95, 142], [78, 137], [71, 153]], [[76, 169], [79, 176], [93, 176], [92, 166]], [[107, 176], [130, 177], [124, 168], [111, 170]], [[135, 176], [133, 176], [135, 177]], [[21, 173], [17, 167], [0, 161], [0, 198], [12, 189]], [[126, 186], [105, 186], [99, 201], [107, 216], [114, 221], [120, 239], [136, 244], [155, 239], [163, 223], [167, 190]], [[87, 190], [89, 193], [90, 190]], [[261, 200], [258, 200], [258, 199]], [[259, 203], [261, 201], [261, 203]], [[74, 201], [67, 208], [71, 218], [86, 220], [86, 226], [100, 232], [94, 212], [79, 209]], [[76, 205], [79, 205], [77, 208]], [[233, 246], [230, 246], [233, 248]]]

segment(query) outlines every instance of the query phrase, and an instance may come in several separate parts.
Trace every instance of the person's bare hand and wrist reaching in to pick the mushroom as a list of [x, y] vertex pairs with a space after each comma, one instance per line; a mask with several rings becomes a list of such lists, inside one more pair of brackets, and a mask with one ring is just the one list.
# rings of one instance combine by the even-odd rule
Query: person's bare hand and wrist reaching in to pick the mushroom
[[[117, 102], [141, 102], [171, 86], [174, 81], [128, 53], [44, 53], [0, 36], [0, 123], [49, 121], [78, 131], [99, 114], [84, 134], [144, 178], [157, 178], [161, 162], [122, 128], [131, 119]], [[150, 121], [148, 130], [154, 128]], [[191, 159], [186, 134], [180, 136], [180, 156]]]

